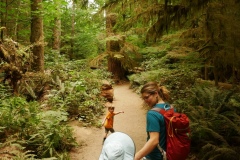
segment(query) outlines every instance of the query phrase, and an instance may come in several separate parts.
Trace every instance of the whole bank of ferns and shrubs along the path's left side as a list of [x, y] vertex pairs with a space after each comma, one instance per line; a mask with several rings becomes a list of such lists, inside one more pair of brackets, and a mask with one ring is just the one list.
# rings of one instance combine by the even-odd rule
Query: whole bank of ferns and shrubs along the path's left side
[[[100, 88], [111, 74], [91, 70], [86, 61], [56, 59], [54, 53], [46, 57], [46, 66], [51, 74], [25, 78], [20, 97], [1, 85], [0, 151], [12, 150], [6, 151], [6, 157], [68, 159], [70, 149], [78, 145], [69, 121], [77, 117], [84, 126], [99, 125], [105, 101]], [[36, 96], [39, 87], [45, 88], [41, 97]]]

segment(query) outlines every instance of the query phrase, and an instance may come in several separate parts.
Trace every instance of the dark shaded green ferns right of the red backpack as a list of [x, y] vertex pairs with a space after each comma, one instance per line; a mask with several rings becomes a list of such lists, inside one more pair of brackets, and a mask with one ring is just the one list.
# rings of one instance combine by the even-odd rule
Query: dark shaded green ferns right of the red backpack
[[[191, 119], [192, 142], [195, 147], [202, 148], [199, 152], [201, 159], [237, 159], [240, 152], [239, 112], [236, 104], [236, 91], [223, 91], [211, 87], [195, 87], [188, 108]], [[234, 104], [234, 105], [233, 105]], [[235, 139], [236, 143], [232, 143]], [[234, 155], [234, 156], [232, 156]]]

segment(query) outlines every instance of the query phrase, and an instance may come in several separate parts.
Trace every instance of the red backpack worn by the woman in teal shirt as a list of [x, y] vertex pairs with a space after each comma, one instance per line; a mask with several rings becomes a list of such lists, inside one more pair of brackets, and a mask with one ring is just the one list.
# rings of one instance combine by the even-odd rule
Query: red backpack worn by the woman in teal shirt
[[[187, 115], [174, 112], [172, 107], [168, 110], [161, 108], [152, 110], [162, 114], [165, 120], [167, 160], [186, 160], [190, 152], [190, 127]], [[161, 147], [159, 149], [163, 151]]]

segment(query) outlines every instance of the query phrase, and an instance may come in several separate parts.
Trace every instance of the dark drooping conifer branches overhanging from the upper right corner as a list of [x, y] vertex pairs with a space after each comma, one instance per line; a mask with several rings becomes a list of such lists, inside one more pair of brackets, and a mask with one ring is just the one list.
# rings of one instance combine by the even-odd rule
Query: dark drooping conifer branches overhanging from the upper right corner
[[114, 28], [119, 34], [136, 35], [144, 47], [184, 29], [181, 44], [204, 59], [201, 78], [214, 80], [216, 86], [239, 83], [237, 0], [109, 0], [103, 9], [119, 15]]

